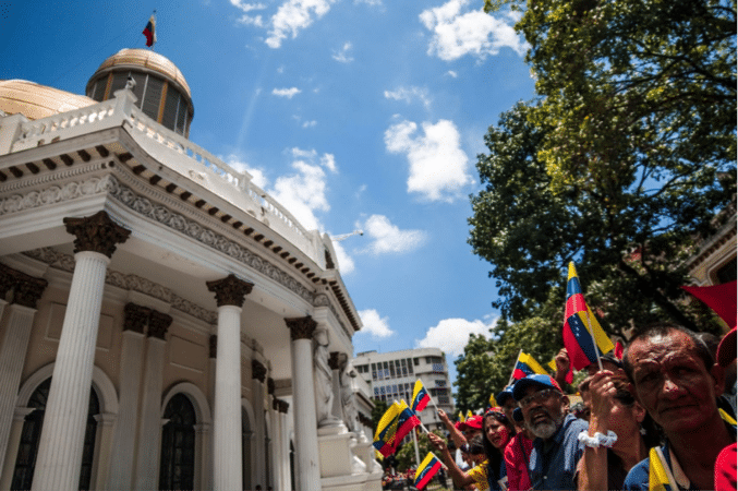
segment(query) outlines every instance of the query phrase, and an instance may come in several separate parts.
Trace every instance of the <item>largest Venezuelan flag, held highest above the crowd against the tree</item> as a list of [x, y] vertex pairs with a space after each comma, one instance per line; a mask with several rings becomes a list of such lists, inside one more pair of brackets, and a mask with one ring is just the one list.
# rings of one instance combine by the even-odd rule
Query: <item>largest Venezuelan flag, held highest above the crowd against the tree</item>
[[[569, 359], [574, 370], [581, 370], [591, 363], [596, 363], [602, 355], [613, 350], [613, 342], [609, 340], [600, 326], [597, 318], [592, 314], [592, 311], [584, 301], [582, 287], [579, 284], [573, 262], [569, 263], [567, 303], [564, 319], [564, 346], [569, 354]], [[589, 328], [592, 328], [594, 333], [596, 346], [592, 342]]]

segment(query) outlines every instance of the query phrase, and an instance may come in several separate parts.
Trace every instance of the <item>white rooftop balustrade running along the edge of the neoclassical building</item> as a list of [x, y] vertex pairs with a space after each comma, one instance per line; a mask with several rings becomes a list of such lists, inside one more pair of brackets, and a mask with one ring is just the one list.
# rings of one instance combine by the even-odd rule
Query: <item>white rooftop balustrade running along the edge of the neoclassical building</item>
[[[289, 211], [251, 182], [247, 172], [233, 169], [206, 149], [157, 123], [135, 107], [134, 101], [131, 92], [118, 91], [114, 98], [99, 104], [35, 121], [21, 122], [11, 152], [121, 125], [128, 130], [126, 127], [130, 124], [131, 136], [158, 161], [196, 180], [199, 185], [208, 188], [234, 206], [255, 216], [300, 248], [317, 264], [323, 264], [322, 254], [318, 254], [320, 240], [316, 231], [307, 231]], [[208, 178], [204, 179], [204, 176]], [[196, 177], [201, 179], [197, 180]]]

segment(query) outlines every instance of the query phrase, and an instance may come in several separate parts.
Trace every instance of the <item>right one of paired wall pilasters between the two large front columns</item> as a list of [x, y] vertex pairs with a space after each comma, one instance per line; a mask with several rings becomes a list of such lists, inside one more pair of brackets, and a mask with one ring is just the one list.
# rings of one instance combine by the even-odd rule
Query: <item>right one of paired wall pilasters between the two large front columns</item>
[[[167, 348], [166, 334], [172, 318], [152, 310], [146, 338], [144, 394], [141, 400], [141, 426], [138, 427], [138, 456], [134, 489], [153, 491], [159, 489], [159, 450], [161, 444], [161, 384], [164, 356]], [[135, 431], [131, 429], [131, 431]]]

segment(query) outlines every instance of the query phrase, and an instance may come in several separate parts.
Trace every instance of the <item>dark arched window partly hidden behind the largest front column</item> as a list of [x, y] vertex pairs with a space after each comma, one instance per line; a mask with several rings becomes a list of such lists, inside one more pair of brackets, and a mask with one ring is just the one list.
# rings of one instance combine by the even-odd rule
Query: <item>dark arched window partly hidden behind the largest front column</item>
[[[21, 443], [15, 458], [15, 468], [13, 470], [13, 490], [25, 491], [31, 489], [36, 468], [36, 456], [38, 455], [38, 443], [41, 439], [41, 428], [44, 426], [44, 415], [46, 412], [46, 403], [49, 398], [51, 388], [51, 378], [41, 382], [28, 399], [28, 407], [34, 411], [26, 416], [21, 432]], [[80, 490], [88, 490], [93, 476], [93, 460], [95, 458], [95, 438], [97, 433], [97, 421], [95, 416], [100, 412], [100, 404], [97, 394], [93, 388], [89, 392], [89, 405], [87, 406], [87, 429], [85, 430], [85, 441], [82, 451], [82, 467], [80, 469]]]

